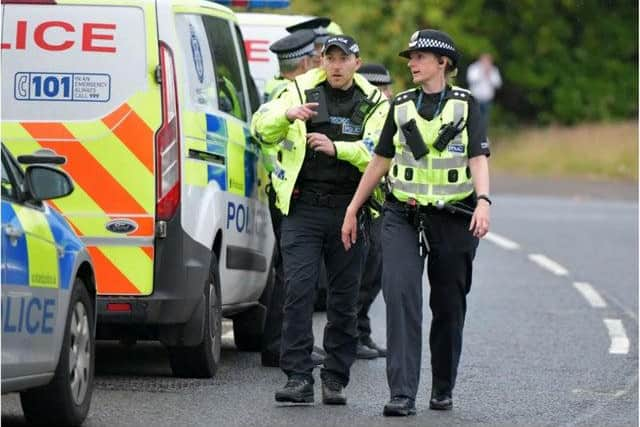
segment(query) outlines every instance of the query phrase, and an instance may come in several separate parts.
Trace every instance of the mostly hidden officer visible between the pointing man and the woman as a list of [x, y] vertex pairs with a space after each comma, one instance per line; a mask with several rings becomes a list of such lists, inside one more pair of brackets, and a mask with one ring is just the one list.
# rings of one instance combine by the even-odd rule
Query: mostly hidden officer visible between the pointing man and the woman
[[[391, 75], [382, 64], [362, 64], [358, 69], [358, 74], [367, 79], [369, 83], [376, 86], [387, 98], [392, 99]], [[381, 203], [383, 199], [383, 189], [376, 189], [370, 200], [370, 222], [368, 224], [369, 245], [366, 254], [364, 274], [360, 284], [358, 295], [358, 348], [356, 356], [358, 359], [375, 359], [385, 357], [387, 350], [379, 346], [371, 338], [371, 319], [369, 319], [369, 309], [380, 293], [382, 287], [382, 212]]]

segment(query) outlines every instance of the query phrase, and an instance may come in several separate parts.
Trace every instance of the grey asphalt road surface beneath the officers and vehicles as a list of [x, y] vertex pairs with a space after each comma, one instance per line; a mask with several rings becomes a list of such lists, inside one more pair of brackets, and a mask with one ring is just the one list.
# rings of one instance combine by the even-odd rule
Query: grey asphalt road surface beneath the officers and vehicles
[[[423, 371], [418, 414], [382, 417], [389, 398], [384, 359], [356, 361], [348, 405], [276, 405], [285, 382], [259, 355], [226, 340], [215, 379], [171, 377], [155, 343], [98, 346], [96, 390], [87, 426], [247, 425], [638, 425], [638, 205], [636, 200], [498, 194], [493, 231], [517, 244], [481, 243], [469, 297], [454, 410], [428, 409], [428, 292], [424, 293]], [[529, 255], [566, 269], [556, 275]], [[604, 300], [592, 307], [574, 287], [586, 282]], [[425, 283], [425, 290], [428, 284]], [[374, 338], [385, 341], [382, 298]], [[628, 352], [610, 353], [604, 319], [619, 320]], [[314, 328], [321, 342], [322, 313]], [[316, 379], [318, 375], [316, 375]], [[16, 395], [2, 398], [2, 424], [23, 425]]]

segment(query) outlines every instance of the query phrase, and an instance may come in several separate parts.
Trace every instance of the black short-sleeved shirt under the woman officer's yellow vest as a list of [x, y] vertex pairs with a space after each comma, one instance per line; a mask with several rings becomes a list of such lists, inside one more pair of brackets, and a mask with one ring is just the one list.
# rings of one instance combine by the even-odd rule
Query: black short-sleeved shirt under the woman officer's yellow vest
[[[418, 99], [419, 91], [421, 89], [417, 88], [415, 93], [415, 99]], [[451, 86], [447, 86], [447, 91], [451, 90]], [[446, 93], [446, 92], [445, 92]], [[420, 107], [420, 117], [425, 120], [431, 120], [433, 118], [436, 109], [438, 108], [438, 104], [441, 98], [441, 92], [438, 93], [423, 93], [422, 94], [422, 105]], [[408, 101], [411, 102], [411, 101]], [[417, 102], [417, 101], [416, 101]], [[444, 101], [442, 102], [444, 104]], [[440, 112], [442, 112], [442, 105], [440, 105]], [[389, 114], [387, 115], [387, 119], [384, 122], [384, 127], [382, 128], [382, 132], [380, 134], [380, 141], [374, 152], [382, 157], [386, 157], [391, 159], [396, 154], [396, 147], [393, 145], [393, 136], [396, 134], [398, 128], [396, 126], [396, 122], [394, 120], [395, 116], [395, 105], [392, 103], [389, 108]], [[482, 124], [481, 115], [480, 115], [480, 107], [476, 100], [470, 96], [469, 97], [469, 115], [467, 117], [467, 128], [466, 131], [469, 135], [469, 144], [467, 147], [467, 155], [469, 158], [476, 156], [489, 156], [489, 141], [486, 136], [486, 129]]]

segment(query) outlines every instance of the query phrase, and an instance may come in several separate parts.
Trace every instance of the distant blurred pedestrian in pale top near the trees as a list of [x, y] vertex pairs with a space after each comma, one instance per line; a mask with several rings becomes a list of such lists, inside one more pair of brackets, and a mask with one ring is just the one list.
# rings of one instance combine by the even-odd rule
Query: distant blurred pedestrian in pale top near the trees
[[496, 89], [502, 86], [502, 77], [498, 67], [493, 64], [493, 57], [483, 53], [480, 58], [469, 65], [467, 69], [467, 83], [471, 94], [480, 106], [482, 123], [489, 129], [489, 114]]

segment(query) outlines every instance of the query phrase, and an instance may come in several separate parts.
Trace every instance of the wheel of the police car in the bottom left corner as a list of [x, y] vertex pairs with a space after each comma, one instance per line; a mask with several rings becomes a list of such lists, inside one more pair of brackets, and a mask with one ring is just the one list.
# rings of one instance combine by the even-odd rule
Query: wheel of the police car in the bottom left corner
[[82, 279], [73, 284], [58, 366], [51, 382], [20, 393], [30, 424], [80, 425], [89, 412], [95, 363], [95, 318]]

